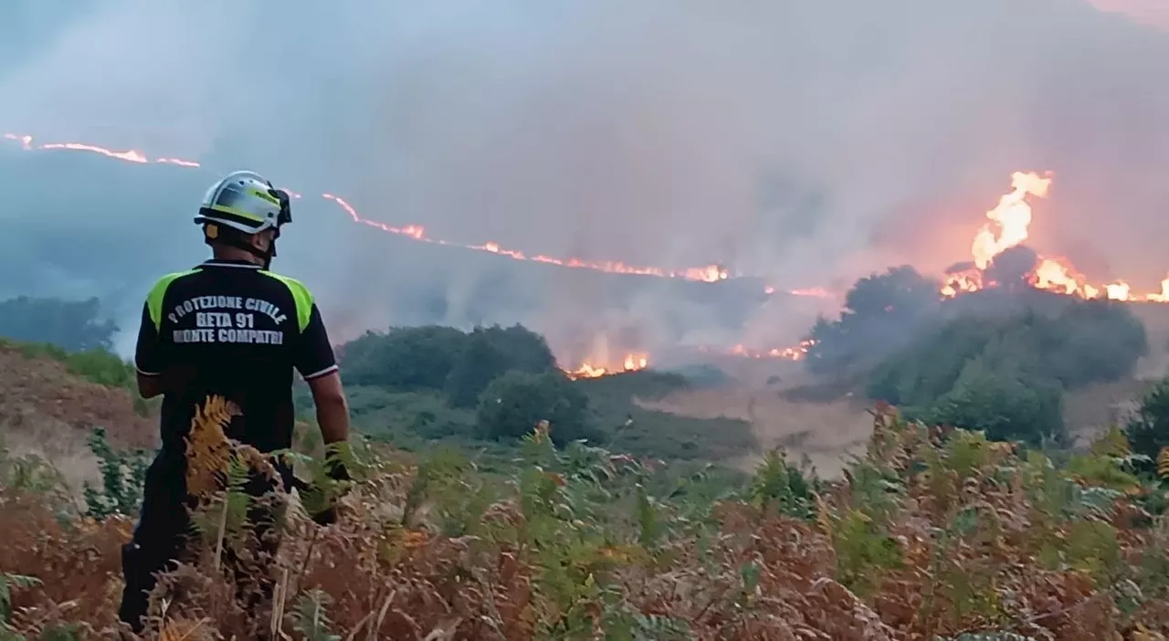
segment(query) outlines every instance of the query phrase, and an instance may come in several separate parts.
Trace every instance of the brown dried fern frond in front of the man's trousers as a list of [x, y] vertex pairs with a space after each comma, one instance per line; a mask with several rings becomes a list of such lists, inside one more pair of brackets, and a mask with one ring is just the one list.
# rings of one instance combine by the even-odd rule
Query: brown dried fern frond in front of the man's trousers
[[206, 497], [221, 488], [231, 460], [231, 443], [223, 432], [242, 412], [223, 397], [208, 397], [195, 407], [187, 443], [187, 491]]

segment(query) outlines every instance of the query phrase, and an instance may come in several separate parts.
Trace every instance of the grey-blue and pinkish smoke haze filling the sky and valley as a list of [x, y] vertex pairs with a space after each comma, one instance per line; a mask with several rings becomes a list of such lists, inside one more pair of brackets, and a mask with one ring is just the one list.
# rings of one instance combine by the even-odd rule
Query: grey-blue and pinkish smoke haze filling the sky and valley
[[[523, 320], [554, 346], [783, 343], [833, 303], [725, 318], [691, 290], [388, 237], [320, 192], [434, 237], [843, 291], [967, 260], [1011, 172], [1051, 170], [1037, 248], [1146, 289], [1169, 269], [1169, 34], [1079, 0], [271, 7], [6, 2], [0, 131], [303, 192], [275, 267], [344, 336]], [[205, 254], [191, 216], [214, 172], [13, 144], [0, 167], [0, 296], [97, 295], [133, 329], [151, 281]]]

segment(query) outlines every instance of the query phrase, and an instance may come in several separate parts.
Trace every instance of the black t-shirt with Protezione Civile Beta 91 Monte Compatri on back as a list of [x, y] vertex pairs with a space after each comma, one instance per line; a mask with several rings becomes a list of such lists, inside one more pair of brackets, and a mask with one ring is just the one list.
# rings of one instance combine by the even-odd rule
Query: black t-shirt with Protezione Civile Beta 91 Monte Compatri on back
[[227, 435], [261, 452], [292, 444], [292, 370], [337, 371], [320, 312], [299, 281], [236, 261], [168, 274], [143, 305], [138, 372], [180, 381], [162, 399], [162, 449], [184, 452], [195, 406], [217, 394], [242, 415]]

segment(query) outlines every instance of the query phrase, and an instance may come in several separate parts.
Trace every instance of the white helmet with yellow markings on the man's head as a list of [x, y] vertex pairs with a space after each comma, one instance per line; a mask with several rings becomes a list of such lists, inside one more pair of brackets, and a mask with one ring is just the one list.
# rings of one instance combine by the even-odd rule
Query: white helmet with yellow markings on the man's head
[[289, 197], [255, 172], [231, 172], [212, 185], [199, 206], [196, 225], [217, 222], [244, 234], [258, 234], [292, 222]]

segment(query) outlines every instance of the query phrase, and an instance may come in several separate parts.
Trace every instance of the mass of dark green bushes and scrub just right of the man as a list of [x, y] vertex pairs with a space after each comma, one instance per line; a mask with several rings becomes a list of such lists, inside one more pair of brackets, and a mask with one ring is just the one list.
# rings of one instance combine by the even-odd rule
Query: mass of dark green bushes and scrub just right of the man
[[[635, 456], [719, 461], [755, 447], [743, 421], [676, 416], [637, 404], [717, 380], [707, 368], [693, 377], [642, 371], [569, 380], [544, 338], [520, 325], [393, 328], [368, 332], [339, 354], [354, 423], [408, 452], [447, 444], [505, 469], [519, 434], [541, 419], [552, 422], [560, 444], [584, 439]], [[304, 386], [296, 400], [300, 416], [311, 419]]]

